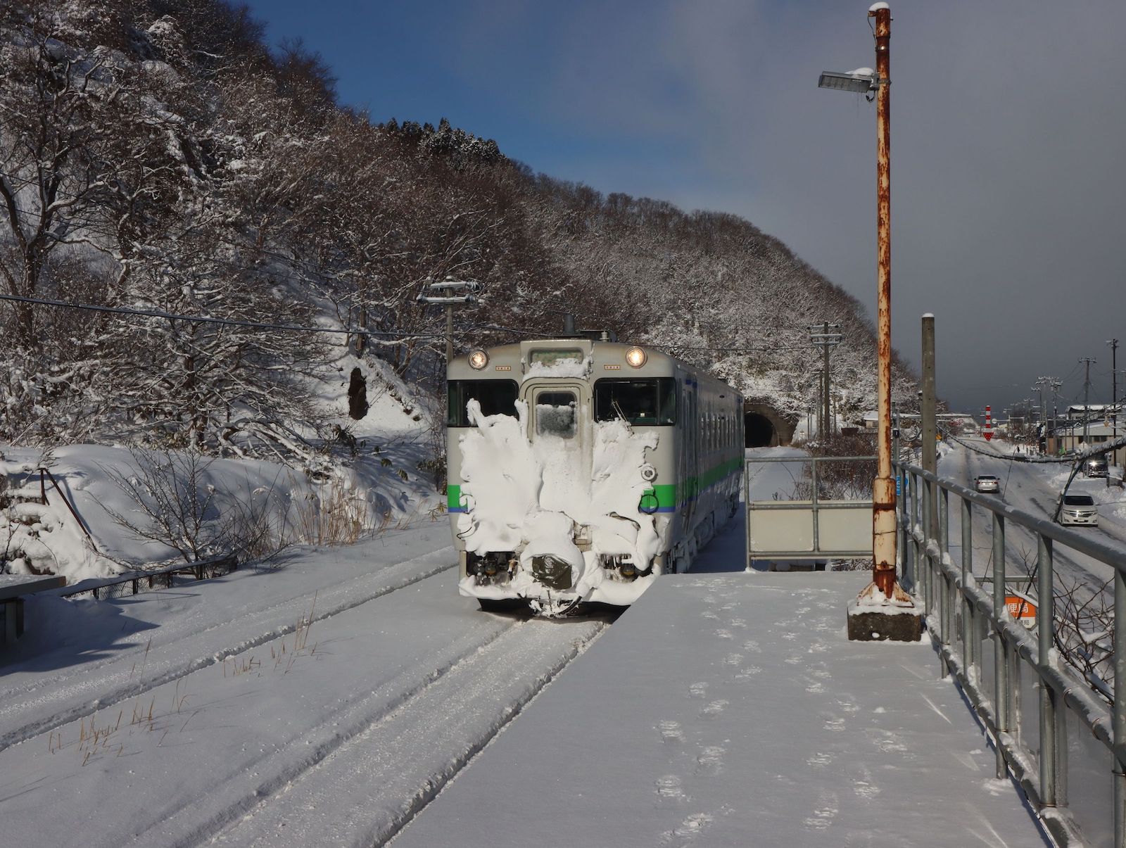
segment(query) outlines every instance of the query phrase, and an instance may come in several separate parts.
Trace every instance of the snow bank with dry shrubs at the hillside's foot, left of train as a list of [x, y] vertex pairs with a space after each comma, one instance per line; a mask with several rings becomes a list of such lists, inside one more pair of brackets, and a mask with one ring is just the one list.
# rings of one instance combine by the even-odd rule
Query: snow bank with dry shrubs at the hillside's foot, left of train
[[[402, 446], [394, 461], [386, 452], [357, 457], [318, 482], [265, 461], [102, 445], [47, 455], [2, 446], [0, 570], [73, 583], [185, 559], [185, 551], [226, 553], [256, 534], [267, 534], [268, 544], [352, 541], [381, 524], [425, 518], [440, 502], [429, 479], [408, 473], [421, 456], [412, 447]], [[46, 505], [41, 466], [50, 472]]]

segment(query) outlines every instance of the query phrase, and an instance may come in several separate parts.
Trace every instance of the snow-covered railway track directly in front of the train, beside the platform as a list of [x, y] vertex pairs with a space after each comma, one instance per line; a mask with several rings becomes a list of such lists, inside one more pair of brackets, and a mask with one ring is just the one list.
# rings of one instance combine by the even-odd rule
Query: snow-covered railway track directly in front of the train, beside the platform
[[[136, 834], [137, 845], [382, 846], [606, 627], [510, 619]], [[311, 751], [294, 758], [292, 750]]]

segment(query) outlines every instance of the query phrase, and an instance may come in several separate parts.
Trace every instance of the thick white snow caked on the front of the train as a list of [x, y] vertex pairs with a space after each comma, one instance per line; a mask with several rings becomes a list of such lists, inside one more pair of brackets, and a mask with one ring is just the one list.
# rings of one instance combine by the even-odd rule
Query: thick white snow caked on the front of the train
[[[477, 586], [471, 575], [462, 580], [462, 593], [546, 599], [531, 560], [551, 555], [571, 565], [571, 597], [628, 604], [641, 595], [652, 575], [624, 582], [600, 566], [599, 556], [624, 557], [643, 572], [660, 548], [654, 517], [637, 509], [649, 488], [640, 468], [645, 452], [656, 447], [656, 434], [635, 432], [620, 420], [598, 421], [581, 425], [572, 439], [540, 434], [531, 443], [526, 403], [517, 403], [515, 418], [483, 416], [476, 401], [470, 401], [468, 412], [475, 429], [459, 441], [466, 511], [458, 517], [458, 534], [472, 553], [520, 551], [520, 556], [508, 583]], [[592, 449], [583, 450], [583, 444]], [[581, 528], [589, 533], [587, 551], [574, 541]]]

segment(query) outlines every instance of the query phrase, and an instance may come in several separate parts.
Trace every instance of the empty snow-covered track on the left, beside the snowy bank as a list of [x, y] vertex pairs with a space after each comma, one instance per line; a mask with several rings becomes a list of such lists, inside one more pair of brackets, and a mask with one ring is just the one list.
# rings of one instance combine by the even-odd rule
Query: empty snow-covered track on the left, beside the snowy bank
[[[366, 548], [367, 545], [360, 545], [357, 552]], [[288, 568], [318, 569], [318, 556], [349, 559], [338, 552], [314, 550]], [[309, 575], [312, 579], [295, 575], [297, 579], [286, 580], [287, 575], [275, 571], [267, 581], [269, 586], [258, 592], [252, 581], [261, 580], [262, 575], [243, 571], [222, 582], [202, 584], [199, 590], [178, 587], [143, 599], [126, 597], [108, 604], [33, 599], [29, 602], [41, 607], [33, 610], [35, 618], [55, 626], [79, 613], [80, 639], [92, 635], [81, 631], [90, 624], [89, 617], [81, 615], [82, 605], [92, 607], [91, 615], [100, 613], [110, 621], [117, 617], [124, 621], [113, 628], [117, 631], [115, 634], [109, 634], [110, 644], [101, 649], [108, 653], [105, 658], [91, 659], [88, 650], [73, 654], [61, 646], [19, 664], [19, 655], [32, 658], [36, 648], [20, 645], [16, 663], [6, 669], [6, 685], [0, 693], [0, 751], [222, 662], [225, 657], [293, 633], [310, 618], [311, 623], [324, 621], [456, 565], [456, 554], [448, 545], [378, 569], [369, 564], [364, 568], [361, 554], [354, 553], [350, 559], [354, 562], [343, 563], [340, 569], [319, 568], [319, 573]], [[184, 604], [186, 596], [194, 602]], [[146, 621], [146, 604], [160, 617], [159, 627]], [[181, 604], [186, 608], [168, 615], [169, 607]], [[53, 607], [56, 615], [51, 615]], [[63, 607], [78, 609], [62, 612]], [[135, 617], [125, 610], [135, 612]], [[101, 628], [102, 635], [106, 630], [109, 628]], [[98, 650], [92, 652], [97, 654]], [[65, 666], [57, 672], [43, 675], [39, 669], [52, 662]]]

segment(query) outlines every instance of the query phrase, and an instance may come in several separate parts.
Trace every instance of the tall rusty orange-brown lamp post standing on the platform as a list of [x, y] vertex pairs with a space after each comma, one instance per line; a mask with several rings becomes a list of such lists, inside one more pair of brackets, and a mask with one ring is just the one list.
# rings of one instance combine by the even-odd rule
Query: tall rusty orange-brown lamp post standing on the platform
[[[873, 582], [891, 598], [895, 586], [895, 482], [892, 480], [892, 10], [873, 7], [876, 19], [876, 257], [877, 471], [873, 483]], [[901, 592], [902, 593], [902, 592]], [[904, 593], [904, 598], [906, 598]]]

